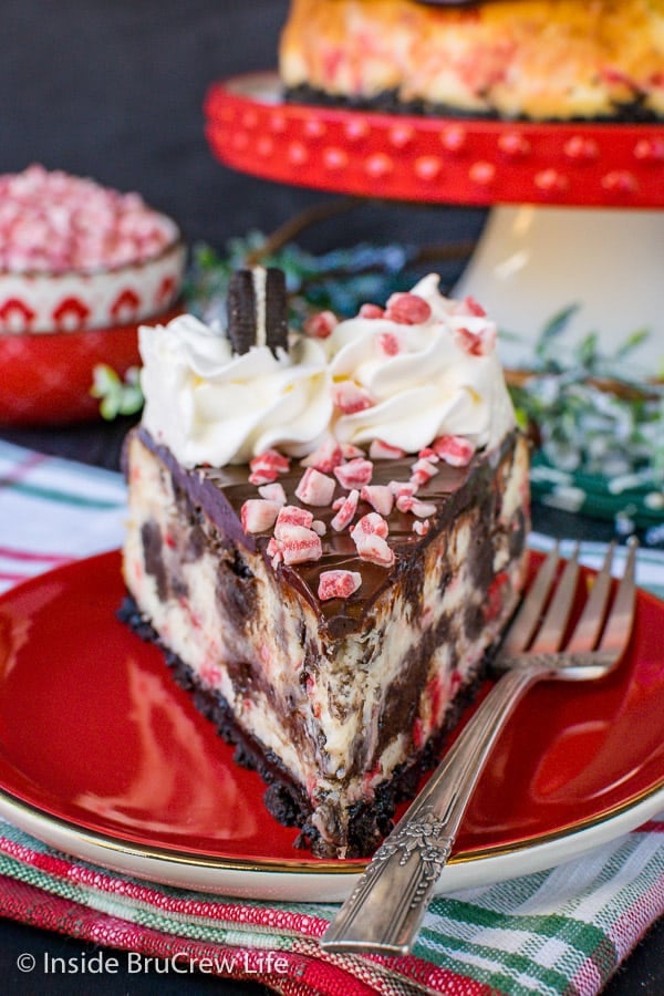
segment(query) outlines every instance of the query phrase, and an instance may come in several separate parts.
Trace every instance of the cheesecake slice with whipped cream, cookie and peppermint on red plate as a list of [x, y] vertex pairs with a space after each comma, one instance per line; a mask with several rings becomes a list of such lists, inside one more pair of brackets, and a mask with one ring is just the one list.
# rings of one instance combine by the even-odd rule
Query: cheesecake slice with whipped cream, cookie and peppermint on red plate
[[528, 448], [495, 326], [437, 278], [288, 332], [276, 271], [228, 329], [142, 331], [124, 615], [321, 857], [373, 851], [522, 590]]

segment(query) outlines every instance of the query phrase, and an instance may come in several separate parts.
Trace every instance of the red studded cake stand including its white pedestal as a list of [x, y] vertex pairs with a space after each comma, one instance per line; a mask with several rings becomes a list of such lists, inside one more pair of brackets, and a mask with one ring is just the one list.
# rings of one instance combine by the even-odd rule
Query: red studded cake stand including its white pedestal
[[[455, 293], [517, 334], [506, 362], [569, 304], [568, 339], [611, 351], [637, 328], [639, 362], [664, 357], [664, 127], [508, 123], [286, 103], [274, 73], [214, 84], [206, 131], [222, 163], [319, 190], [491, 206]], [[521, 342], [522, 340], [522, 342]]]

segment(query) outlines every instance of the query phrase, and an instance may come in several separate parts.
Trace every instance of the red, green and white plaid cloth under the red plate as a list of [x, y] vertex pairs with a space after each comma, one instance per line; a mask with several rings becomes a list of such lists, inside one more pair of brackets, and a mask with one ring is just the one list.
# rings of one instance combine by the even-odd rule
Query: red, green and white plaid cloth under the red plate
[[[118, 475], [0, 443], [0, 590], [116, 548], [124, 515]], [[531, 542], [544, 549], [551, 541]], [[583, 544], [583, 559], [594, 566], [602, 549]], [[643, 551], [637, 580], [662, 596], [664, 557]], [[401, 958], [323, 953], [317, 938], [332, 904], [155, 885], [92, 867], [3, 821], [0, 914], [291, 996], [590, 996], [664, 913], [663, 831], [664, 816], [556, 869], [437, 898], [413, 954]]]

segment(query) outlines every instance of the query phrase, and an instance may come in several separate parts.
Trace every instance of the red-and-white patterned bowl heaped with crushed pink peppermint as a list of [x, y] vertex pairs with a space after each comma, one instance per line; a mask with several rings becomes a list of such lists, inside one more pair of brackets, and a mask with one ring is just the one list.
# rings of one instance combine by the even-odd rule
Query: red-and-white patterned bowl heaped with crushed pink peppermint
[[139, 322], [181, 292], [178, 225], [139, 194], [32, 165], [0, 175], [0, 335]]

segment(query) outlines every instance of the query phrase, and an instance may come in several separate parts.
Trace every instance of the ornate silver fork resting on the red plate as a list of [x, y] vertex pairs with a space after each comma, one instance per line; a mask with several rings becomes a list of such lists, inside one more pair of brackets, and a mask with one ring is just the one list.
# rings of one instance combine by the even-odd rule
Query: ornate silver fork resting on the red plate
[[542, 563], [495, 662], [500, 679], [364, 870], [321, 940], [326, 951], [407, 954], [479, 775], [521, 695], [542, 678], [603, 677], [621, 660], [634, 618], [636, 543], [630, 543], [611, 608], [610, 547], [566, 640], [578, 553], [577, 548], [558, 582], [558, 546]]

